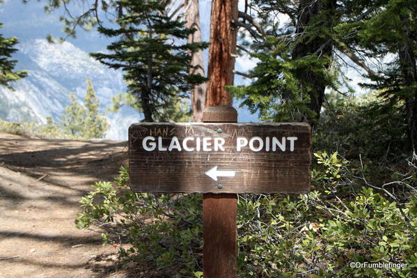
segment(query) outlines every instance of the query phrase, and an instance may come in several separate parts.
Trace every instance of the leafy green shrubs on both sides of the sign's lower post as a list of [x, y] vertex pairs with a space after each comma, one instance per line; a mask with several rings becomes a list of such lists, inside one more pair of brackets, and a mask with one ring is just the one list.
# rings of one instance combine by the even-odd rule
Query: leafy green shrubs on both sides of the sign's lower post
[[[414, 277], [415, 165], [402, 178], [408, 199], [400, 203], [362, 187], [354, 178], [360, 170], [337, 153], [315, 157], [310, 194], [239, 195], [239, 277]], [[123, 167], [114, 184], [95, 183], [81, 200], [77, 227], [99, 227], [104, 242], [121, 244], [121, 259], [152, 265], [155, 277], [200, 277], [201, 195], [135, 194], [127, 181]], [[352, 262], [407, 267], [351, 268]]]

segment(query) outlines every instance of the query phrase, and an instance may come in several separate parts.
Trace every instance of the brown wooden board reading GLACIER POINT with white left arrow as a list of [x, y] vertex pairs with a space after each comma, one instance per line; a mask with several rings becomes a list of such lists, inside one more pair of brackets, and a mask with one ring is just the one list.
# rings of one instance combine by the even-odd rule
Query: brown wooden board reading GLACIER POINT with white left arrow
[[129, 128], [134, 192], [306, 193], [306, 123], [136, 123]]

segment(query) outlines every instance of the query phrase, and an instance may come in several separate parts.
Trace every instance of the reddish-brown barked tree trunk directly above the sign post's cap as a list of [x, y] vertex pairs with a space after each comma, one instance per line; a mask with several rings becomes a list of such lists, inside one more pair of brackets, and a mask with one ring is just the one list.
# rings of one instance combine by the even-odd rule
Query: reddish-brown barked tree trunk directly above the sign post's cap
[[232, 106], [224, 86], [233, 85], [234, 80], [237, 29], [233, 22], [237, 16], [237, 0], [212, 1], [206, 107]]

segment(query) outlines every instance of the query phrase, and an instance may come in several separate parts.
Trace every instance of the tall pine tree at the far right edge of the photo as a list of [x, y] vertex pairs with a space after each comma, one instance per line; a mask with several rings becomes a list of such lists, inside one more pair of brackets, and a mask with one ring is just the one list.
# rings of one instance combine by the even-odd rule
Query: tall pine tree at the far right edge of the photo
[[[362, 66], [372, 84], [384, 97], [384, 107], [402, 107], [407, 126], [409, 149], [417, 148], [417, 9], [412, 0], [352, 0], [345, 3], [349, 20], [336, 28], [338, 41], [351, 53], [363, 57]], [[349, 34], [349, 36], [345, 36]], [[384, 57], [390, 57], [384, 62]], [[379, 61], [377, 70], [365, 65], [366, 59]]]

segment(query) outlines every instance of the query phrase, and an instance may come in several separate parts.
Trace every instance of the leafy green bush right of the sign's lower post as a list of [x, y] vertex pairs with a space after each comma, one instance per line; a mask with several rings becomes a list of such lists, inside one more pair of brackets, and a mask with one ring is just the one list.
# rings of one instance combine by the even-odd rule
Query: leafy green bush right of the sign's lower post
[[[388, 201], [361, 187], [358, 170], [337, 153], [315, 157], [310, 194], [239, 201], [239, 277], [413, 277], [416, 190], [405, 204]], [[349, 266], [356, 262], [407, 268]]]

